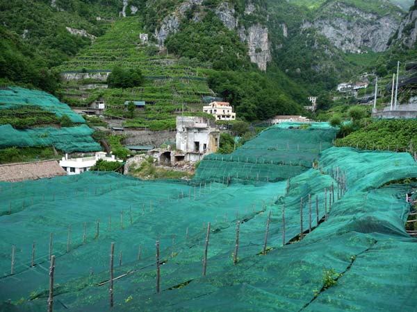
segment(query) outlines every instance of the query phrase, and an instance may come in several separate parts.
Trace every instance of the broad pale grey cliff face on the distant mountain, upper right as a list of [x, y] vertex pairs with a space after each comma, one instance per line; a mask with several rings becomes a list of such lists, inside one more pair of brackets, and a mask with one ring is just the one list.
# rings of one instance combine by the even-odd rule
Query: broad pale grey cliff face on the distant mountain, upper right
[[365, 49], [385, 51], [389, 38], [400, 24], [393, 15], [379, 16], [339, 2], [332, 3], [325, 12], [327, 14], [312, 22], [304, 22], [302, 30], [316, 28], [344, 52], [361, 53]]

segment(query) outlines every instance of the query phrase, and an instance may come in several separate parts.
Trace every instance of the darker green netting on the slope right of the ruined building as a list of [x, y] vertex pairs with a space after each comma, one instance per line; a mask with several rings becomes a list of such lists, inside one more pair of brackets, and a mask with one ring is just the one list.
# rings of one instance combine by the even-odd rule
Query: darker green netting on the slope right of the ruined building
[[332, 146], [336, 132], [328, 123], [314, 123], [310, 128], [297, 130], [274, 126], [230, 155], [204, 157], [195, 179], [286, 180], [311, 168], [320, 152]]

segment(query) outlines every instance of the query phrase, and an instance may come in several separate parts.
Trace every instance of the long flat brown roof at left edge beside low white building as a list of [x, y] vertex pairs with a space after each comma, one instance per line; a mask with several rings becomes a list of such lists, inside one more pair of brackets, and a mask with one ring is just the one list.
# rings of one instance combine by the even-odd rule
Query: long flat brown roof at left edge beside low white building
[[55, 159], [0, 165], [0, 181], [17, 182], [66, 175]]

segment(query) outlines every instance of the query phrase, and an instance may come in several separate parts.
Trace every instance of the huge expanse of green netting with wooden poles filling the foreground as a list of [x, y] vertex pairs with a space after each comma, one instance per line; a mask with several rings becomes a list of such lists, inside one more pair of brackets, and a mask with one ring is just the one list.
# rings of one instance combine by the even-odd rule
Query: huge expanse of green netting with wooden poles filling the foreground
[[[22, 297], [37, 298], [19, 304], [19, 311], [45, 311], [53, 232], [54, 311], [108, 310], [109, 285], [102, 283], [109, 276], [111, 242], [115, 242], [114, 276], [119, 277], [114, 281], [112, 311], [414, 311], [417, 240], [404, 230], [410, 211], [405, 193], [413, 186], [384, 184], [415, 176], [417, 168], [404, 153], [366, 153], [328, 148], [322, 152], [319, 170], [306, 169], [291, 177], [288, 193], [286, 181], [242, 184], [235, 178], [227, 187], [218, 179], [141, 181], [90, 172], [0, 183], [0, 299], [15, 303]], [[347, 193], [332, 203], [327, 193], [325, 204], [324, 189], [336, 184], [326, 173], [334, 175], [337, 167], [347, 173]], [[306, 237], [297, 242], [301, 198]], [[293, 241], [284, 247], [283, 205], [285, 243]], [[269, 212], [267, 247], [272, 249], [260, 255]], [[242, 223], [234, 266], [237, 219]], [[203, 277], [208, 221], [212, 227]], [[161, 293], [156, 294], [158, 239], [163, 264]], [[33, 240], [37, 265], [30, 268]], [[15, 275], [10, 275], [12, 245]], [[325, 270], [330, 269], [343, 275], [325, 289]]]

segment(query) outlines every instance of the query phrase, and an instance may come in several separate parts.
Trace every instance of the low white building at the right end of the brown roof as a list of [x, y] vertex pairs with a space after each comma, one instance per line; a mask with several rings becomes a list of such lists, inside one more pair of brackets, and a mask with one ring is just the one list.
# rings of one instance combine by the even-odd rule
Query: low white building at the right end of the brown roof
[[65, 154], [65, 157], [59, 161], [59, 165], [67, 171], [67, 175], [79, 175], [89, 171], [99, 159], [106, 160], [106, 162], [123, 162], [121, 159], [116, 159], [115, 155], [107, 157], [105, 152], [97, 152], [95, 156], [79, 158], [68, 158], [68, 154]]

